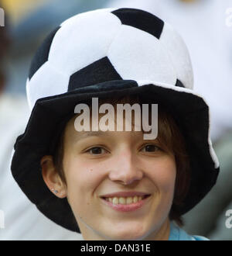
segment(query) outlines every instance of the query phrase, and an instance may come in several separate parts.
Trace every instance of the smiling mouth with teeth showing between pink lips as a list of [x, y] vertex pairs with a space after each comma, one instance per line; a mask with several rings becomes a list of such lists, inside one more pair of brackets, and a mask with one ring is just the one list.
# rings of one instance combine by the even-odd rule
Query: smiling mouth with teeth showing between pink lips
[[128, 196], [128, 197], [101, 197], [101, 200], [107, 206], [110, 206], [112, 209], [121, 212], [131, 212], [135, 211], [136, 209], [140, 209], [142, 206], [145, 205], [145, 202], [151, 195], [135, 195], [135, 196]]

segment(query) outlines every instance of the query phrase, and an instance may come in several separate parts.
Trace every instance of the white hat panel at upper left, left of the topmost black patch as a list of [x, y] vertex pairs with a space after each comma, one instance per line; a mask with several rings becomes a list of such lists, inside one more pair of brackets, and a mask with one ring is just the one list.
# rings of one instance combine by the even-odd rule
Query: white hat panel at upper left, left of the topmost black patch
[[87, 12], [63, 23], [53, 38], [49, 62], [67, 74], [73, 74], [105, 57], [121, 27], [111, 12]]

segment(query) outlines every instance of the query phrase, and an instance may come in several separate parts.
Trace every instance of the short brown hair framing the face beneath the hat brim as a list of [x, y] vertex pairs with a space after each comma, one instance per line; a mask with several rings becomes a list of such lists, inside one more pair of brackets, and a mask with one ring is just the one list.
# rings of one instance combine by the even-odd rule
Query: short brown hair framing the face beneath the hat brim
[[[142, 99], [139, 96], [125, 96], [120, 99], [99, 99], [99, 106], [103, 103], [111, 103], [111, 105], [116, 106], [116, 104], [149, 104], [154, 103], [149, 99]], [[88, 102], [87, 102], [88, 104]], [[90, 103], [88, 104], [91, 110]], [[183, 226], [183, 220], [181, 218], [180, 209], [183, 204], [183, 199], [185, 199], [186, 194], [189, 189], [189, 181], [190, 181], [190, 167], [189, 167], [189, 156], [186, 153], [186, 145], [185, 140], [179, 127], [176, 124], [175, 119], [172, 115], [169, 114], [169, 111], [165, 109], [165, 106], [159, 104], [158, 106], [158, 137], [159, 143], [162, 148], [169, 152], [169, 154], [173, 154], [176, 160], [176, 184], [175, 184], [175, 192], [174, 198], [172, 202], [172, 208], [169, 213], [170, 220], [176, 221], [179, 226]], [[149, 116], [149, 119], [151, 116]], [[55, 153], [53, 154], [53, 161], [58, 171], [60, 178], [62, 178], [63, 182], [67, 184], [64, 171], [63, 171], [63, 138], [64, 132], [60, 136], [60, 140], [58, 141], [58, 147], [55, 149]]]

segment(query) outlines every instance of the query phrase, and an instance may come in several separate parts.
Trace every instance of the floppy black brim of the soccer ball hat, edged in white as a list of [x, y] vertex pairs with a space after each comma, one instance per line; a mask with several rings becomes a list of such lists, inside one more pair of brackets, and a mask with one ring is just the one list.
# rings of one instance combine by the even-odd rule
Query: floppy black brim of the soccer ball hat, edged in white
[[59, 199], [49, 191], [43, 181], [40, 161], [50, 153], [57, 127], [74, 107], [92, 97], [109, 99], [125, 95], [143, 95], [154, 103], [168, 107], [186, 140], [191, 178], [189, 192], [181, 213], [192, 209], [210, 191], [217, 181], [219, 164], [211, 145], [209, 107], [199, 95], [187, 88], [131, 80], [107, 81], [98, 85], [77, 88], [72, 92], [39, 99], [32, 109], [25, 133], [15, 142], [12, 175], [27, 197], [50, 220], [68, 230], [80, 233], [67, 199]]

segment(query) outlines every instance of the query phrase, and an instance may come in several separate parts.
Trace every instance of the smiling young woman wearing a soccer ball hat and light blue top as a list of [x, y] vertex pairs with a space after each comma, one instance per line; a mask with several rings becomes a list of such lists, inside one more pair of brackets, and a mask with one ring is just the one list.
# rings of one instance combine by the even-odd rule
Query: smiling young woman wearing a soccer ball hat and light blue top
[[[158, 17], [138, 9], [73, 16], [32, 61], [32, 113], [15, 143], [12, 174], [42, 213], [84, 240], [206, 240], [174, 224], [219, 171], [209, 108], [192, 88], [183, 40]], [[131, 130], [99, 130], [105, 111], [91, 108], [93, 99], [114, 109], [105, 126], [118, 103], [158, 104], [157, 137], [145, 139], [135, 120]], [[77, 104], [97, 111], [91, 129], [79, 129], [88, 116]], [[151, 109], [146, 117], [155, 119]]]

